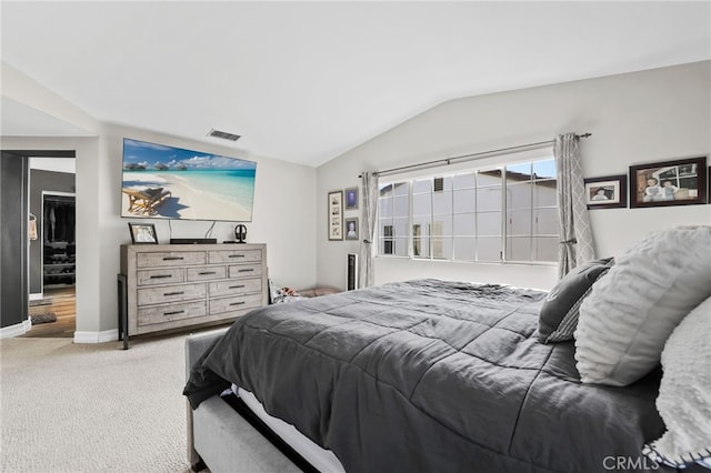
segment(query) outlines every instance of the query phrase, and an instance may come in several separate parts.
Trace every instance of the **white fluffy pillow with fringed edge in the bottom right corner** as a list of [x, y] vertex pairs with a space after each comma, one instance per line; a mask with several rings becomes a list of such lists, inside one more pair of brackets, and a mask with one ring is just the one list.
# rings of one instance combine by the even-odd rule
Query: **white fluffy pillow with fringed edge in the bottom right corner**
[[643, 452], [657, 463], [683, 467], [711, 456], [711, 298], [674, 329], [662, 369], [657, 410], [667, 432]]

